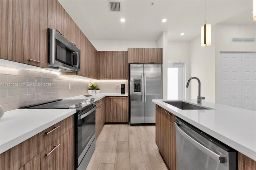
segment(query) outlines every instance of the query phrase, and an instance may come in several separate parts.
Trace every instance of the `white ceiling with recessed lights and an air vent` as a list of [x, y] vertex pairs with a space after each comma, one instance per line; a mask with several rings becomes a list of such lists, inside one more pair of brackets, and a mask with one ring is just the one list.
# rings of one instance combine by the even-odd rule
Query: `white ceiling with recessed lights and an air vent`
[[[89, 40], [157, 40], [167, 31], [168, 40], [189, 41], [205, 24], [205, 0], [122, 0], [122, 12], [110, 12], [108, 0], [59, 2]], [[207, 23], [256, 24], [252, 0], [207, 0]]]

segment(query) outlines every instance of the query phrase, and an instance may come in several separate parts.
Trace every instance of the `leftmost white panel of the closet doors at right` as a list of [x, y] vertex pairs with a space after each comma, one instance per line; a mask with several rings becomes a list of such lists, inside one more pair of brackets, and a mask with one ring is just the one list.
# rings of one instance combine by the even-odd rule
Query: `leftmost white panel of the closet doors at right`
[[230, 53], [220, 53], [220, 104], [230, 106]]

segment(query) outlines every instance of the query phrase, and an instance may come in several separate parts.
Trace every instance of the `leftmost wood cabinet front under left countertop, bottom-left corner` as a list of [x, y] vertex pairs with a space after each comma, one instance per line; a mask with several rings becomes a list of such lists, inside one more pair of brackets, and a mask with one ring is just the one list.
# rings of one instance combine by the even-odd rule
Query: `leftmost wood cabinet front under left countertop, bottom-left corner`
[[21, 166], [21, 144], [0, 154], [1, 170], [17, 170]]

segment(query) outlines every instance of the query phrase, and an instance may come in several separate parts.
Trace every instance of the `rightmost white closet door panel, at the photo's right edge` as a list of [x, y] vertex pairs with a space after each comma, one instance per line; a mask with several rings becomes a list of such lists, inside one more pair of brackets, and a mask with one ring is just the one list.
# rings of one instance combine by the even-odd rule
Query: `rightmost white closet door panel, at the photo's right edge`
[[242, 108], [256, 111], [256, 53], [242, 53]]

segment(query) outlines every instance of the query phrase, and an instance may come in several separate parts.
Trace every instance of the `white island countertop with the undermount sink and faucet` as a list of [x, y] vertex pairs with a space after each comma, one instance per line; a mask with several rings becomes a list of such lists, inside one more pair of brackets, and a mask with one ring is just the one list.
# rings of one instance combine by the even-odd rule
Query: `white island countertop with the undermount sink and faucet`
[[[202, 101], [202, 106], [210, 107], [212, 110], [181, 110], [164, 103], [167, 100], [152, 101], [256, 161], [255, 111], [205, 101]], [[184, 101], [197, 103], [197, 100]]]

